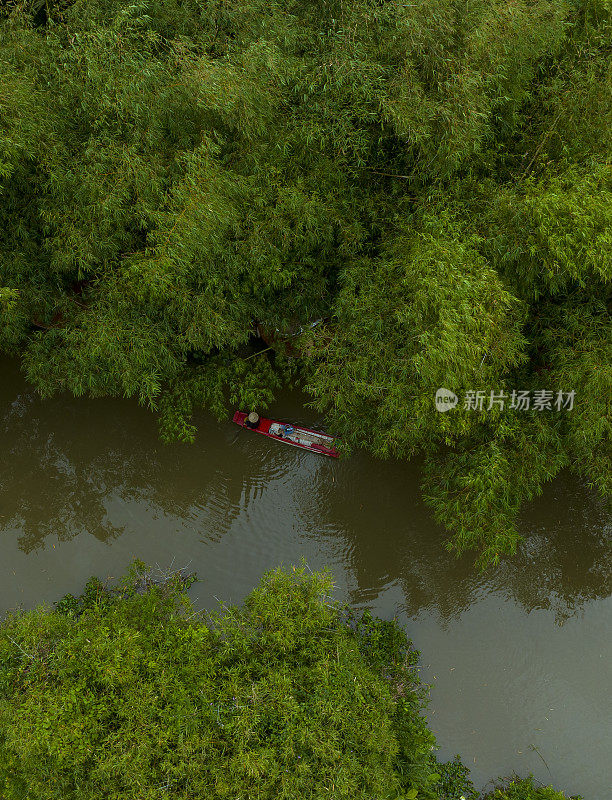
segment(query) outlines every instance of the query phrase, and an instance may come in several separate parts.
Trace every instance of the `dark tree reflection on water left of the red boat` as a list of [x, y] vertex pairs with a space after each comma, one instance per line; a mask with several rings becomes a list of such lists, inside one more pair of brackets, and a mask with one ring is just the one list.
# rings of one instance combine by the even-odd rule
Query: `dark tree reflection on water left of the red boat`
[[207, 460], [202, 445], [160, 445], [149, 412], [125, 401], [39, 402], [27, 391], [15, 399], [22, 382], [8, 383], [10, 398], [0, 397], [0, 531], [19, 530], [23, 551], [49, 535], [113, 539], [125, 528], [115, 500], [189, 518], [206, 506], [212, 484], [227, 527], [237, 515], [248, 486], [215, 481], [218, 459]]

